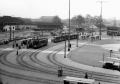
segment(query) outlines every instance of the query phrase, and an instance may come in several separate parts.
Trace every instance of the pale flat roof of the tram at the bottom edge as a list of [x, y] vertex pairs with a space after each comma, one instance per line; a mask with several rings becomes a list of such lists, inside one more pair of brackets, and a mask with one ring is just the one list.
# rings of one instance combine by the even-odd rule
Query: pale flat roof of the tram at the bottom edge
[[64, 80], [66, 80], [66, 81], [73, 81], [73, 82], [88, 83], [88, 84], [92, 84], [92, 83], [95, 82], [94, 79], [85, 79], [85, 78], [77, 78], [77, 77], [70, 77], [70, 76], [66, 76], [64, 78]]

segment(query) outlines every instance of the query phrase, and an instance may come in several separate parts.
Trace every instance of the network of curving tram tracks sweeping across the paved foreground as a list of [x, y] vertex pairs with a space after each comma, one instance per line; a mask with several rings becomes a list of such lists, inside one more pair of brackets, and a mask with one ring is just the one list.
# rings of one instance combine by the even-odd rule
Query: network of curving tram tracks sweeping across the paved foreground
[[[10, 63], [9, 61], [7, 61], [6, 57], [9, 53], [3, 52], [0, 53], [0, 63], [15, 68], [15, 69], [21, 69], [21, 70], [28, 70], [31, 72], [36, 72], [36, 73], [47, 73], [47, 74], [51, 74], [51, 75], [56, 75], [57, 74], [57, 70], [58, 70], [58, 66], [63, 67], [63, 70], [65, 71], [64, 74], [65, 75], [72, 75], [73, 73], [79, 73], [79, 75], [74, 75], [74, 76], [81, 76], [81, 74], [84, 74], [85, 72], [87, 72], [88, 74], [92, 74], [93, 78], [98, 80], [98, 81], [104, 81], [104, 82], [111, 82], [111, 83], [118, 83], [118, 80], [113, 80], [113, 79], [105, 79], [105, 78], [100, 78], [99, 76], [103, 76], [103, 77], [110, 77], [110, 78], [120, 78], [117, 75], [109, 75], [109, 74], [101, 74], [101, 73], [96, 73], [96, 72], [91, 72], [91, 71], [87, 71], [87, 70], [82, 70], [82, 69], [78, 69], [78, 68], [74, 68], [71, 66], [67, 66], [65, 64], [62, 64], [60, 62], [58, 62], [55, 59], [55, 56], [58, 52], [60, 52], [63, 49], [63, 47], [56, 49], [55, 51], [49, 53], [47, 55], [48, 61], [50, 61], [53, 65], [52, 66], [50, 64], [44, 63], [42, 61], [40, 61], [37, 58], [37, 54], [40, 52], [22, 52], [21, 54], [19, 54], [16, 58], [17, 62], [19, 65], [15, 65]], [[33, 65], [28, 64], [23, 58], [25, 56], [29, 56], [30, 60], [33, 61], [34, 63], [37, 63], [39, 65], [41, 65], [43, 68], [41, 67], [35, 67]], [[51, 70], [49, 69], [51, 68]], [[47, 71], [47, 69], [49, 69]], [[41, 71], [40, 71], [41, 70]], [[54, 71], [56, 70], [56, 72]], [[49, 72], [49, 73], [48, 73]], [[69, 73], [70, 72], [70, 73]], [[32, 77], [32, 76], [26, 76], [26, 75], [21, 75], [21, 74], [16, 74], [16, 73], [11, 73], [5, 70], [0, 69], [0, 74], [2, 75], [6, 75], [9, 77], [15, 77], [15, 78], [20, 78], [20, 79], [24, 79], [24, 80], [30, 80], [30, 81], [36, 81], [36, 82], [43, 82], [43, 83], [49, 83], [49, 84], [62, 84], [62, 81], [56, 81], [56, 80], [49, 80], [49, 79], [44, 79], [44, 78], [39, 78], [39, 77]], [[83, 76], [83, 75], [82, 75]], [[119, 83], [118, 83], [119, 84]]]

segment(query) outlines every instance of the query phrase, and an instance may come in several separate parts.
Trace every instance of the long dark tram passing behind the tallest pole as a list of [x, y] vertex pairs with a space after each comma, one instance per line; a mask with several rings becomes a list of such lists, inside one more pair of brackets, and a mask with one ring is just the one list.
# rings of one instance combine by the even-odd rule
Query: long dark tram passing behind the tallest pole
[[77, 39], [78, 35], [77, 34], [71, 34], [70, 36], [69, 35], [54, 36], [51, 41], [53, 43], [58, 43], [58, 42], [68, 40], [69, 38], [70, 38], [70, 40]]

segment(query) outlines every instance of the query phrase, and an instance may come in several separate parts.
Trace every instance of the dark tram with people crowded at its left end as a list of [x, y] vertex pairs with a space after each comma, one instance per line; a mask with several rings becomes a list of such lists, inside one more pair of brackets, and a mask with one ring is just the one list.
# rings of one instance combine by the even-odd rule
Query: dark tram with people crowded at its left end
[[37, 38], [37, 39], [26, 39], [21, 42], [21, 44], [24, 44], [27, 46], [27, 48], [33, 48], [33, 49], [38, 49], [43, 46], [47, 46], [48, 44], [48, 38]]

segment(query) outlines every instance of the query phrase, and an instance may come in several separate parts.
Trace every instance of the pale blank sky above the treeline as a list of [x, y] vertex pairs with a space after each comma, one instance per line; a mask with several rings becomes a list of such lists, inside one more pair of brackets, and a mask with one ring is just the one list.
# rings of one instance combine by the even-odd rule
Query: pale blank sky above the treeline
[[[100, 0], [70, 0], [71, 17], [76, 15], [100, 15]], [[103, 18], [120, 19], [120, 0], [103, 0]], [[0, 0], [0, 16], [23, 18], [41, 16], [69, 17], [69, 0]]]

